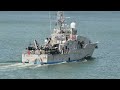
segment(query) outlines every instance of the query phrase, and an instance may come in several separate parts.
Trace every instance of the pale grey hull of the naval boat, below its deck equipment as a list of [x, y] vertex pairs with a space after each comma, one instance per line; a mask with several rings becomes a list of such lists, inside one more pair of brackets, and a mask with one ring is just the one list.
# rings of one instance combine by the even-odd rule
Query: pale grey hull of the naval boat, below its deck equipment
[[22, 54], [23, 63], [33, 63], [33, 64], [54, 64], [60, 62], [72, 62], [81, 60], [86, 57], [92, 57], [93, 52], [97, 43], [86, 45], [82, 49], [76, 49], [69, 51], [69, 53], [64, 54]]

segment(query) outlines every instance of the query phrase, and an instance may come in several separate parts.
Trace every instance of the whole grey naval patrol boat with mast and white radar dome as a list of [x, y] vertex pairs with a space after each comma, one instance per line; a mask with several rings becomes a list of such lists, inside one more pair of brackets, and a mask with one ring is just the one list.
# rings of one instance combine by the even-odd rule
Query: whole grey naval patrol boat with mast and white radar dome
[[87, 37], [77, 35], [76, 23], [65, 23], [63, 11], [57, 12], [57, 22], [44, 45], [37, 40], [22, 53], [23, 63], [54, 64], [60, 62], [79, 61], [91, 57], [97, 48]]

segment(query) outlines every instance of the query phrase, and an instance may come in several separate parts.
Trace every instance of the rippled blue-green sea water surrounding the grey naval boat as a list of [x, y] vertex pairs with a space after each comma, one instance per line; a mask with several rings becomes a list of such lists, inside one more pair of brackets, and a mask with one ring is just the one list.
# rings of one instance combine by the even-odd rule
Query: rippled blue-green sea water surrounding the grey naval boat
[[[55, 19], [55, 12], [51, 12]], [[99, 41], [93, 58], [56, 65], [21, 63], [21, 53], [34, 39], [43, 44], [50, 35], [47, 11], [0, 11], [1, 79], [117, 79], [120, 78], [120, 12], [66, 11], [78, 34]], [[54, 25], [52, 20], [52, 28]]]

